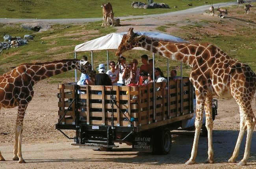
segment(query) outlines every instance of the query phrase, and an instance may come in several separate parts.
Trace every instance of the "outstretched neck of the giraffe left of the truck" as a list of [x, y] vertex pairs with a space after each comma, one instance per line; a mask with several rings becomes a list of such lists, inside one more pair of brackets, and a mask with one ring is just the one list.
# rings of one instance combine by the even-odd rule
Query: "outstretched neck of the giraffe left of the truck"
[[26, 72], [26, 74], [31, 77], [31, 83], [34, 85], [40, 80], [58, 75], [63, 72], [67, 72], [74, 68], [80, 68], [79, 60], [77, 59], [68, 59], [57, 62], [44, 62], [38, 64], [23, 64], [20, 65], [17, 69], [18, 71], [24, 70], [24, 72]]

